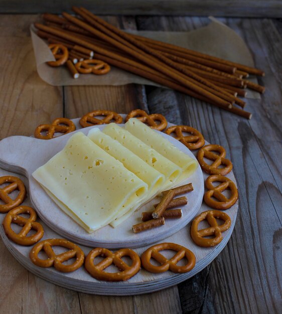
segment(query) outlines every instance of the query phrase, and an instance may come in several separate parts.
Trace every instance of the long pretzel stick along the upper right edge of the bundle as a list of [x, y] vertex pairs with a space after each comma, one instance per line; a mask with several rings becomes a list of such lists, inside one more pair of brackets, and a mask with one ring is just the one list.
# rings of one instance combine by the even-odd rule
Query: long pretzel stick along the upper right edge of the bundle
[[252, 67], [248, 67], [248, 66], [245, 66], [245, 65], [242, 65], [242, 64], [239, 64], [239, 63], [235, 63], [235, 62], [232, 62], [232, 61], [220, 59], [218, 57], [206, 55], [206, 54], [203, 54], [203, 53], [200, 53], [200, 52], [197, 52], [197, 51], [194, 51], [194, 50], [190, 50], [190, 49], [187, 49], [187, 48], [183, 48], [183, 47], [175, 46], [175, 45], [172, 45], [172, 44], [160, 42], [160, 41], [157, 41], [157, 40], [154, 40], [154, 39], [150, 39], [150, 38], [147, 38], [147, 37], [142, 37], [142, 36], [139, 36], [139, 35], [132, 35], [132, 36], [135, 37], [136, 39], [139, 39], [139, 40], [143, 41], [143, 42], [155, 44], [155, 45], [158, 45], [158, 46], [161, 46], [161, 47], [166, 47], [166, 48], [168, 48], [170, 50], [173, 50], [173, 51], [182, 52], [184, 54], [191, 54], [193, 56], [198, 56], [198, 57], [201, 57], [201, 58], [206, 59], [206, 60], [211, 60], [211, 61], [222, 63], [222, 64], [225, 64], [225, 65], [233, 66], [233, 67], [236, 67], [238, 70], [247, 72], [249, 74], [254, 74], [254, 75], [258, 75], [258, 76], [264, 76], [264, 72], [262, 70], [259, 70], [259, 69], [256, 69], [256, 68], [252, 68]]

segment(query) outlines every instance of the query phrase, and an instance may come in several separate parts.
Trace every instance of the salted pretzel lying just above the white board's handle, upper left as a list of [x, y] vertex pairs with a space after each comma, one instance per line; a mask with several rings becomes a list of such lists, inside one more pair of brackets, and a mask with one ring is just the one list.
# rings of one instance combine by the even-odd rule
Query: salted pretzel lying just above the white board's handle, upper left
[[[57, 118], [51, 124], [40, 124], [35, 129], [34, 136], [40, 139], [54, 138], [54, 134], [58, 133], [70, 133], [75, 131], [75, 124], [72, 120], [67, 118]], [[46, 135], [42, 135], [42, 132], [47, 132]]]

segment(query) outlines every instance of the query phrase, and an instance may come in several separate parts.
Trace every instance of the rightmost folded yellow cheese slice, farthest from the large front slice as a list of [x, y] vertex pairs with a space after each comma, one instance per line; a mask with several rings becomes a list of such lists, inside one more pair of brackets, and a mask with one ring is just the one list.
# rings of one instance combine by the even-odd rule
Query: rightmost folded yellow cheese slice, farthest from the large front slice
[[196, 160], [192, 159], [186, 153], [178, 149], [164, 136], [145, 123], [136, 118], [131, 118], [125, 123], [125, 129], [142, 140], [145, 144], [157, 150], [183, 170], [183, 173], [178, 178], [177, 183], [184, 181], [196, 171], [198, 167], [198, 162]]

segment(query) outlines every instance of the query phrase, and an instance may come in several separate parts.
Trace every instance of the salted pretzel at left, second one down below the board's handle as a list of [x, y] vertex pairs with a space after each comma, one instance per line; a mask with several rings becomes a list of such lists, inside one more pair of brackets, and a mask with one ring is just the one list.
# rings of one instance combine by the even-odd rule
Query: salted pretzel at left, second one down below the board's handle
[[[29, 218], [19, 216], [20, 214], [29, 214]], [[36, 212], [29, 206], [18, 206], [5, 216], [3, 220], [3, 227], [8, 238], [20, 245], [32, 245], [38, 242], [44, 234], [42, 225], [36, 222]], [[12, 228], [11, 224], [17, 224], [23, 226], [19, 233], [16, 233]], [[36, 233], [27, 236], [31, 229], [35, 230]]]

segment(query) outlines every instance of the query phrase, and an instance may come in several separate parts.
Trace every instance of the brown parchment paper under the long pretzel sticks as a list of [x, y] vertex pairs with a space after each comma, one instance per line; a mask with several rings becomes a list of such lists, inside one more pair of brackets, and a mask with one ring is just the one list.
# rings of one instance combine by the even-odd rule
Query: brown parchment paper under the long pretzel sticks
[[[244, 41], [229, 27], [210, 18], [211, 23], [203, 28], [190, 32], [148, 32], [134, 31], [130, 33], [157, 39], [175, 44], [184, 48], [193, 49], [212, 56], [227, 59], [233, 62], [254, 66], [250, 51]], [[106, 75], [83, 74], [73, 79], [66, 67], [50, 67], [47, 61], [54, 61], [54, 57], [47, 43], [36, 35], [34, 26], [31, 26], [31, 37], [35, 52], [37, 72], [39, 76], [50, 85], [124, 85], [146, 84], [160, 86], [138, 75], [123, 71], [111, 66]], [[256, 82], [256, 79], [250, 79]], [[248, 98], [260, 98], [259, 93], [248, 90]]]

